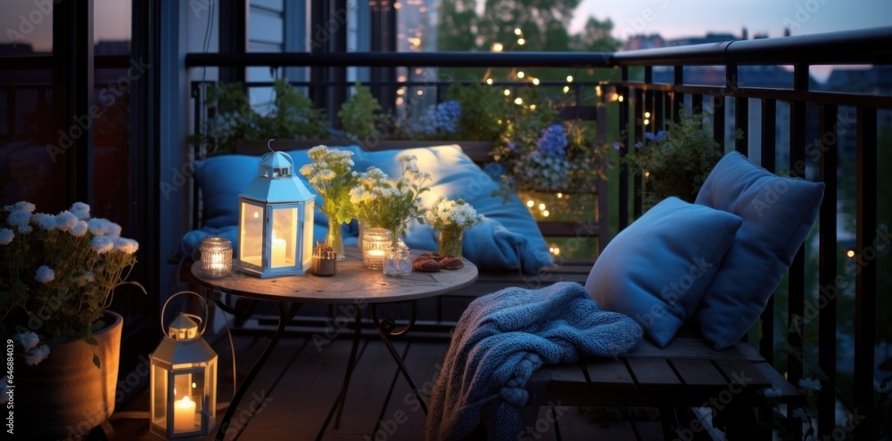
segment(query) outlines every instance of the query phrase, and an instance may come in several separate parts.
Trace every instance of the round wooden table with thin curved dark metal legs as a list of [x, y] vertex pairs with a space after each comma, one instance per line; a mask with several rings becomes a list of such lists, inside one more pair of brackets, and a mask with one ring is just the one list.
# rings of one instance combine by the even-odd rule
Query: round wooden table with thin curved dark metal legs
[[[425, 252], [427, 251], [411, 250], [413, 257]], [[389, 338], [401, 336], [409, 332], [416, 319], [417, 299], [430, 298], [454, 290], [460, 290], [474, 283], [477, 280], [477, 267], [467, 259], [462, 259], [465, 265], [458, 270], [441, 270], [436, 273], [413, 271], [408, 276], [396, 277], [384, 275], [384, 272], [381, 270], [374, 271], [366, 268], [365, 265], [362, 265], [362, 257], [359, 254], [359, 249], [356, 247], [347, 247], [344, 249], [344, 254], [347, 258], [337, 263], [337, 273], [331, 276], [307, 274], [260, 279], [250, 274], [244, 274], [234, 268], [232, 274], [227, 277], [211, 278], [202, 275], [201, 263], [196, 262], [192, 265], [192, 277], [195, 282], [203, 287], [238, 297], [276, 302], [279, 310], [279, 323], [276, 331], [269, 339], [267, 347], [263, 349], [257, 362], [254, 363], [251, 372], [248, 372], [242, 384], [235, 391], [232, 402], [227, 407], [226, 414], [219, 422], [219, 429], [217, 430], [218, 440], [223, 440], [226, 437], [229, 421], [235, 414], [238, 403], [251, 385], [254, 377], [260, 372], [263, 363], [266, 363], [278, 340], [282, 338], [285, 324], [291, 322], [301, 305], [306, 303], [356, 306], [353, 345], [350, 351], [350, 359], [347, 362], [347, 371], [344, 372], [341, 394], [338, 398], [335, 428], [340, 425], [343, 402], [347, 396], [347, 388], [350, 387], [350, 379], [356, 363], [356, 353], [359, 348], [359, 339], [362, 331], [361, 310], [366, 307], [368, 307], [372, 315], [372, 322], [375, 324], [378, 335], [384, 341], [384, 346], [387, 347], [387, 351], [390, 353], [393, 361], [400, 368], [402, 376], [409, 383], [409, 388], [415, 393], [418, 403], [421, 404], [422, 409], [427, 413], [425, 400], [416, 387], [415, 381], [409, 376], [409, 371], [406, 370], [406, 365], [402, 363], [400, 355], [393, 349]], [[410, 301], [412, 306], [409, 324], [397, 330], [392, 319], [378, 319], [378, 305], [405, 301]], [[222, 305], [219, 301], [217, 303], [221, 309], [229, 311], [227, 306]]]

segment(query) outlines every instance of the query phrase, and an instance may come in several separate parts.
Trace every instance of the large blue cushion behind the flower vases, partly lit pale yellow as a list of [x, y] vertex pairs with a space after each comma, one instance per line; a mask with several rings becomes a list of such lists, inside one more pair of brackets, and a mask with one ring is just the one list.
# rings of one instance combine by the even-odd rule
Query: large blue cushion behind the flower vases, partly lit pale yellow
[[[429, 207], [437, 197], [463, 199], [485, 216], [483, 225], [465, 231], [462, 257], [483, 270], [522, 268], [536, 273], [551, 265], [549, 246], [539, 231], [529, 209], [511, 195], [508, 202], [492, 193], [499, 184], [491, 179], [457, 145], [444, 145], [409, 150], [369, 151], [358, 162], [359, 171], [370, 166], [381, 168], [388, 176], [400, 176], [401, 154], [415, 155], [418, 167], [431, 174], [431, 191], [422, 195]], [[416, 249], [437, 248], [434, 229], [430, 225], [409, 224], [406, 244]]]

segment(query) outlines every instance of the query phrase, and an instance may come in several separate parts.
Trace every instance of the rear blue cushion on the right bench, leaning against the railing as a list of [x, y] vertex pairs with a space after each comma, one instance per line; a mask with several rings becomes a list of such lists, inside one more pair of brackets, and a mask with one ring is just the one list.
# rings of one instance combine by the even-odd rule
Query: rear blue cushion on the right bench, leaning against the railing
[[814, 224], [824, 184], [776, 176], [736, 151], [706, 177], [696, 203], [743, 218], [698, 312], [704, 337], [731, 347], [756, 323]]

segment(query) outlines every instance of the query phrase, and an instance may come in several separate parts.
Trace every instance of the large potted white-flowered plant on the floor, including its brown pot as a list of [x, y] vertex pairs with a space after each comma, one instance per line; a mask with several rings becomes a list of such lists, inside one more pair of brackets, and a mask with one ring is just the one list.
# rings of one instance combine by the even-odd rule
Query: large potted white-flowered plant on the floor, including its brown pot
[[[78, 202], [57, 215], [29, 202], [0, 209], [0, 331], [12, 349], [16, 429], [67, 437], [114, 410], [120, 314], [139, 244]], [[7, 398], [8, 399], [8, 398]], [[21, 412], [20, 412], [21, 411]]]

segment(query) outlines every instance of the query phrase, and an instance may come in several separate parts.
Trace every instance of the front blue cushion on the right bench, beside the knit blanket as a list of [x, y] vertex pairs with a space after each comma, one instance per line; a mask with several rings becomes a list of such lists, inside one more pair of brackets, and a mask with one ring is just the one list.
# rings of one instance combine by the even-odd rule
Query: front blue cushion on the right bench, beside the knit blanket
[[607, 244], [585, 289], [665, 347], [694, 316], [741, 222], [675, 197], [663, 200]]

